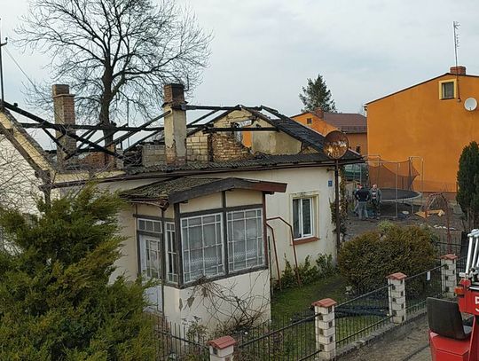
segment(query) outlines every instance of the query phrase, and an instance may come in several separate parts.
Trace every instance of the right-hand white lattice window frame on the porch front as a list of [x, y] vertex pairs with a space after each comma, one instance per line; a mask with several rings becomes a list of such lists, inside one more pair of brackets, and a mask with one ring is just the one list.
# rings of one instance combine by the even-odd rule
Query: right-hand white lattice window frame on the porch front
[[[255, 212], [255, 216], [247, 216], [247, 212]], [[234, 218], [235, 214], [240, 214], [242, 213], [241, 218]], [[259, 215], [259, 216], [258, 216]], [[259, 227], [260, 227], [260, 234], [257, 235], [255, 238], [247, 238], [247, 220], [252, 220], [255, 219], [256, 221], [259, 220]], [[248, 208], [248, 209], [239, 209], [239, 210], [232, 210], [226, 212], [226, 224], [227, 224], [227, 235], [228, 235], [228, 266], [229, 266], [229, 271], [230, 273], [236, 272], [236, 271], [242, 271], [242, 270], [247, 270], [255, 267], [262, 267], [265, 263], [265, 257], [264, 257], [264, 235], [263, 235], [263, 209], [262, 208]], [[244, 239], [233, 239], [234, 237], [234, 232], [232, 232], [234, 223], [243, 221], [243, 235]], [[254, 257], [248, 257], [248, 251], [247, 251], [247, 242], [248, 240], [251, 241], [255, 239], [256, 242], [256, 249], [255, 249], [255, 256]], [[244, 249], [244, 267], [235, 267], [235, 246], [237, 246], [238, 243], [244, 242], [245, 249]], [[231, 246], [231, 247], [230, 247]], [[248, 262], [251, 263], [251, 261], [256, 261], [255, 264], [250, 264], [248, 265]]]

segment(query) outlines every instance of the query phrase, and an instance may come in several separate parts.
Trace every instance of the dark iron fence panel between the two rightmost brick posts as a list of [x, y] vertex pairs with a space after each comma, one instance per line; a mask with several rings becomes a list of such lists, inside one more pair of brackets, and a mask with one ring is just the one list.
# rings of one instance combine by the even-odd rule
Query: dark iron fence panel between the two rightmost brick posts
[[428, 297], [444, 297], [444, 279], [442, 271], [445, 265], [420, 272], [404, 279], [406, 295], [406, 315], [410, 315], [426, 307]]

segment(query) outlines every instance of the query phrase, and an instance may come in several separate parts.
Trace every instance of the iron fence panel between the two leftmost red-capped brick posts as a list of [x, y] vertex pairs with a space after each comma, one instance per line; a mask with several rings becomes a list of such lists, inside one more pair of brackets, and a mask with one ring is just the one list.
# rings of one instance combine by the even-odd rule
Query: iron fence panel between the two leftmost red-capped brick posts
[[296, 361], [313, 360], [318, 355], [316, 346], [315, 319], [313, 311], [305, 311], [294, 318], [274, 319], [249, 329], [232, 334], [238, 341], [234, 359]]

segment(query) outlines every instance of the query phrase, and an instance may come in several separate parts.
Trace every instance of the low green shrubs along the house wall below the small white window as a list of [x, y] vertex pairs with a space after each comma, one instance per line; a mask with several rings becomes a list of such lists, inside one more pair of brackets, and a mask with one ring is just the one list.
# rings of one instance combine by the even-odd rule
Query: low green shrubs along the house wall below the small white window
[[[292, 267], [291, 263], [285, 260], [285, 270], [281, 273], [281, 286], [283, 288], [292, 288], [298, 285], [296, 270], [303, 285], [308, 285], [318, 279], [324, 279], [334, 273], [335, 267], [333, 264], [333, 257], [331, 255], [318, 255], [314, 264], [311, 264], [311, 256], [306, 256], [304, 263], [298, 264], [298, 267]], [[279, 283], [275, 284], [279, 287]]]

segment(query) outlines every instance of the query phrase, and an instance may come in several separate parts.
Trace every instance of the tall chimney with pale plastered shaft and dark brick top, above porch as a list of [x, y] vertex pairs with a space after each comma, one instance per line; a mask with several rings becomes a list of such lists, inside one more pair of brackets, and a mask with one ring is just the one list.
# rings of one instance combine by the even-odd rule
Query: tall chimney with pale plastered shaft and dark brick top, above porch
[[186, 111], [185, 87], [183, 84], [167, 84], [163, 87], [163, 111], [165, 116], [166, 161], [169, 164], [182, 164], [186, 161]]

